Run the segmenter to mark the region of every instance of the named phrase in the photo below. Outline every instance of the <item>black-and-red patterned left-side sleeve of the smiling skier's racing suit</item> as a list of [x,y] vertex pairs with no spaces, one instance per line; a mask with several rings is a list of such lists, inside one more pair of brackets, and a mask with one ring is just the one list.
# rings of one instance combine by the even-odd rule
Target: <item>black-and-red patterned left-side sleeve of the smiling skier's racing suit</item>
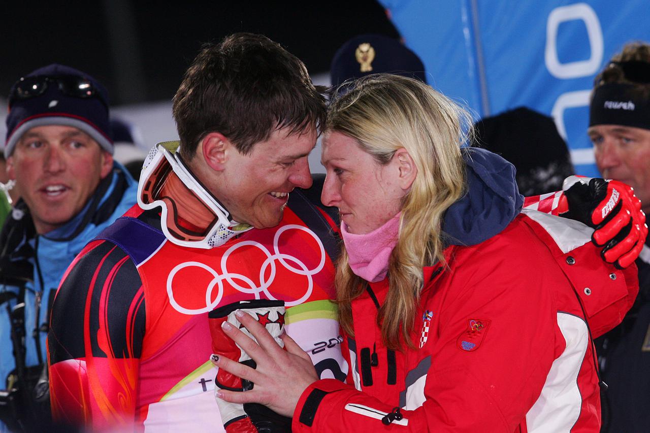
[[48,335],[53,417],[92,430],[132,428],[145,308],[135,264],[88,244],[57,291]]

